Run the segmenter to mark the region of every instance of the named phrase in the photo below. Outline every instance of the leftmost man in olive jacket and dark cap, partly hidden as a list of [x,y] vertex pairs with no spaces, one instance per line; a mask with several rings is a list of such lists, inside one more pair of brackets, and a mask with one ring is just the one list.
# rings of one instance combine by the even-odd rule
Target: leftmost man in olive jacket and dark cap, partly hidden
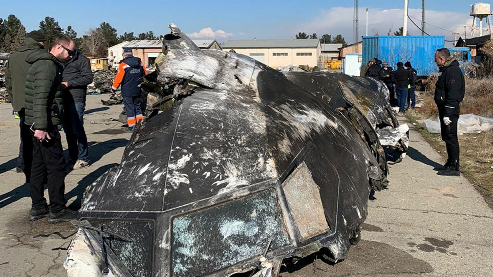
[[15,112],[19,114],[21,143],[19,157],[17,158],[17,172],[24,172],[26,183],[29,183],[31,175],[31,160],[33,159],[33,141],[29,126],[24,124],[24,90],[26,88],[26,75],[31,67],[26,62],[29,54],[43,49],[44,35],[39,31],[33,31],[26,35],[24,43],[10,55],[5,67],[5,86]]

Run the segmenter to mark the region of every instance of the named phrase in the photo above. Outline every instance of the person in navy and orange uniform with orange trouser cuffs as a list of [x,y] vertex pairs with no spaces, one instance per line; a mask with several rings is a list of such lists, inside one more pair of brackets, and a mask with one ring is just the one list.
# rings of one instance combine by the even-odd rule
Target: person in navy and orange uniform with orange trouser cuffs
[[143,119],[141,108],[141,77],[147,74],[141,59],[132,55],[131,48],[123,49],[124,59],[120,61],[118,72],[111,89],[113,93],[121,85],[123,104],[127,113],[128,132]]

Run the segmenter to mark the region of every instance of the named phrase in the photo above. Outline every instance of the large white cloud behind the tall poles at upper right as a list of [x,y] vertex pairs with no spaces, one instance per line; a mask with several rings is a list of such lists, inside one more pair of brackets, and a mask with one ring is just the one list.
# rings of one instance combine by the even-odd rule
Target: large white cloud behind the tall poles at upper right
[[[403,25],[403,9],[382,9],[370,8],[368,11],[368,35],[387,35],[391,28],[391,35]],[[409,15],[412,20],[421,28],[421,9],[410,9]],[[330,34],[335,36],[341,34],[348,43],[353,42],[352,28],[352,7],[332,7],[323,10],[311,21],[291,24],[291,34],[305,32],[307,34],[317,33],[318,36]],[[426,25],[426,32],[430,35],[445,35],[446,39],[453,38],[453,32],[463,36],[464,25],[467,25],[468,36],[470,35],[472,19],[468,13],[426,10],[426,23],[441,27],[445,30]],[[359,9],[359,36],[365,35],[366,11],[365,8]],[[421,35],[421,31],[408,20],[408,32],[410,35]]]

